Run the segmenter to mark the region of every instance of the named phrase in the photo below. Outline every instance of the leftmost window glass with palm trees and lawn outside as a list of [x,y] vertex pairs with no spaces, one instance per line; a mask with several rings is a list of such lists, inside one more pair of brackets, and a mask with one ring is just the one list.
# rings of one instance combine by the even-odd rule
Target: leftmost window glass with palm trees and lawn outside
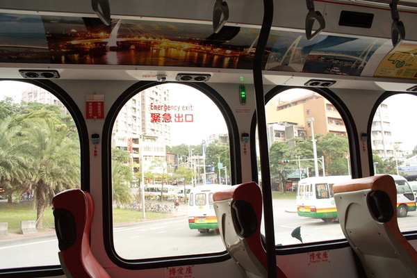
[[0,269],[59,265],[51,200],[80,188],[74,120],[51,92],[0,81]]

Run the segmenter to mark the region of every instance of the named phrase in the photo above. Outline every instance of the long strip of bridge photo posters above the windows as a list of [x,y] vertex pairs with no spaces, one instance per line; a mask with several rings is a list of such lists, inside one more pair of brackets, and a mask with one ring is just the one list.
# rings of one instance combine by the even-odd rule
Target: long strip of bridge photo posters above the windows
[[[259,28],[0,13],[0,63],[252,69]],[[272,30],[264,70],[417,80],[417,43]]]

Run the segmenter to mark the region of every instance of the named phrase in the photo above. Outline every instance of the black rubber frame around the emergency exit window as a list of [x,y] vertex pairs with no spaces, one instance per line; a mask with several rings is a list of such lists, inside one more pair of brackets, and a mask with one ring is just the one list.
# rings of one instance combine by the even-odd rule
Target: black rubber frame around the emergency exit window
[[[242,171],[238,166],[240,161],[240,136],[238,133],[238,124],[234,118],[234,113],[231,111],[229,104],[224,98],[213,88],[205,83],[188,83],[188,82],[166,82],[188,85],[195,88],[211,99],[216,104],[224,117],[229,132],[229,148],[231,161],[231,183],[241,183]],[[102,151],[102,191],[103,191],[103,233],[104,233],[104,247],[109,259],[115,265],[129,270],[142,270],[150,268],[163,268],[174,265],[195,264],[195,263],[215,263],[229,259],[227,251],[218,253],[206,254],[189,254],[184,256],[170,256],[160,258],[147,259],[124,259],[117,254],[113,242],[113,208],[111,206],[112,200],[112,184],[111,184],[111,134],[113,124],[116,117],[124,104],[126,104],[131,97],[138,94],[142,90],[152,88],[161,83],[156,81],[138,81],[126,89],[120,97],[118,97],[108,111],[103,127],[103,140],[101,144]]]

